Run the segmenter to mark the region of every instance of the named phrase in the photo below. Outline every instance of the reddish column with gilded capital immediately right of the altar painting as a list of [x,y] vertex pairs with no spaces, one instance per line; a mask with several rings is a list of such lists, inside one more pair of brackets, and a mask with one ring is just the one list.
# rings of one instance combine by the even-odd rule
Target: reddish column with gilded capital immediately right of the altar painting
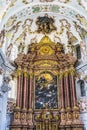
[[63,72],[60,71],[59,73],[59,90],[60,90],[60,112],[61,112],[61,122],[60,122],[60,129],[65,130],[65,106],[64,106],[64,87],[63,87]]

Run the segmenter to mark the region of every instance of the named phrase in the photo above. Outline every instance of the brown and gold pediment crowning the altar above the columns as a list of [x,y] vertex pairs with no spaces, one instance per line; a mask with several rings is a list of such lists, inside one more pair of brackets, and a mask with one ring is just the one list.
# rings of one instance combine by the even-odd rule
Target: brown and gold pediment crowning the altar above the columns
[[76,59],[64,53],[61,43],[55,44],[48,36],[44,36],[39,43],[29,46],[28,54],[19,54],[15,62],[35,69],[63,69],[74,65]]

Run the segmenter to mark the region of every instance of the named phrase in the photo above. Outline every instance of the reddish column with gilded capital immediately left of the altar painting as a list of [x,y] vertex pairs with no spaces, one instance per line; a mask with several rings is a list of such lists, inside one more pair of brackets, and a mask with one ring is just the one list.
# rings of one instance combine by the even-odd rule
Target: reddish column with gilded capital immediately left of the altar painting
[[29,125],[29,130],[33,130],[34,124],[33,124],[33,70],[30,69],[29,71],[29,108],[28,108],[28,116],[27,121]]

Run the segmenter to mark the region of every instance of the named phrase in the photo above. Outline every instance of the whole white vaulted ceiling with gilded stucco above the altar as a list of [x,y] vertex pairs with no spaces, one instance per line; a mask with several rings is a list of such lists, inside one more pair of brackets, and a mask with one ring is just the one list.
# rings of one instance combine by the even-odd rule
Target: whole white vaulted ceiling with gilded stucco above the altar
[[0,47],[5,44],[9,60],[27,53],[28,45],[44,35],[61,42],[66,53],[87,35],[86,0],[4,0],[1,8]]

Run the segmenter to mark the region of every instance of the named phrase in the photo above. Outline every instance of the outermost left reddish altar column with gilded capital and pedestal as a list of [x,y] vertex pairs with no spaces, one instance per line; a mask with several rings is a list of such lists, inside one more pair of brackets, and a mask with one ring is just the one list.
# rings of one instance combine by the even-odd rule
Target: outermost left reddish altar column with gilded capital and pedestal
[[11,125],[11,130],[21,130],[21,89],[22,88],[22,70],[21,67],[17,70],[17,100],[16,108],[14,109],[14,120]]

